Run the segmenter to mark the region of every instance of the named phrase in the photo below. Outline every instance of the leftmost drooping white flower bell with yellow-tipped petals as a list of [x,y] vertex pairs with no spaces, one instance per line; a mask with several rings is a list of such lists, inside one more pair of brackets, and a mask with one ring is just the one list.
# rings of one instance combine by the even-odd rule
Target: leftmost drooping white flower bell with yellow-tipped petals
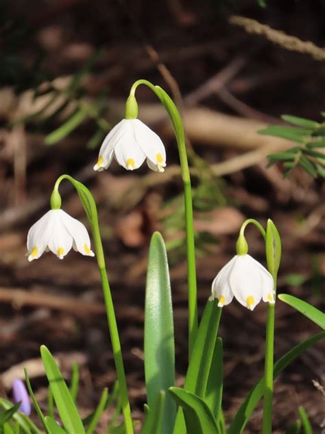
[[86,227],[62,209],[50,209],[28,231],[29,261],[40,258],[44,251],[51,251],[63,259],[71,247],[82,255],[94,256]]

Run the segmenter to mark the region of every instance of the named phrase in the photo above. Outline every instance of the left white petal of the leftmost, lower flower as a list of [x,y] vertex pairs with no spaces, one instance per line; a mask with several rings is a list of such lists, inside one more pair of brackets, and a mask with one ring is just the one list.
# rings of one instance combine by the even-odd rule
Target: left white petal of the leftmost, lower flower
[[40,258],[47,248],[47,244],[55,229],[53,222],[56,221],[58,209],[50,209],[29,229],[27,234],[28,260]]

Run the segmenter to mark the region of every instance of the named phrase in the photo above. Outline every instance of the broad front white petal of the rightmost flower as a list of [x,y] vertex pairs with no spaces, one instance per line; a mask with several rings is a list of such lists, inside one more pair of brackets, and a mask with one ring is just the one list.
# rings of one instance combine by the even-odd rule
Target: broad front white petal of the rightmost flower
[[230,288],[240,304],[253,310],[261,301],[263,278],[250,255],[237,255],[230,275]]

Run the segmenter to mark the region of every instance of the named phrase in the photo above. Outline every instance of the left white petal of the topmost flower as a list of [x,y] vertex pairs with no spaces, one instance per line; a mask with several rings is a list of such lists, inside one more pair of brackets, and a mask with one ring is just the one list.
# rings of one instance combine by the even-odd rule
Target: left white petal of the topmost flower
[[119,124],[115,125],[115,127],[110,130],[101,144],[98,161],[94,165],[94,170],[101,172],[101,170],[108,168],[113,158],[115,146],[117,146],[129,128],[130,124],[128,123],[128,119],[122,119]]

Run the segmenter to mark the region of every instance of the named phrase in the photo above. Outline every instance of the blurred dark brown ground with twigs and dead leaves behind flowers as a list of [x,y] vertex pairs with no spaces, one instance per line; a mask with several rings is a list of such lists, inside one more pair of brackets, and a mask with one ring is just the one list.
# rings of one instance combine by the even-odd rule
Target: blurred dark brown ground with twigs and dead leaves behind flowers
[[[0,1],[0,394],[29,367],[45,404],[39,346],[48,345],[69,378],[80,365],[80,408],[88,414],[115,369],[94,260],[71,252],[27,262],[29,227],[49,209],[53,183],[69,173],[86,183],[99,207],[108,275],[117,310],[134,417],[143,418],[143,304],[149,239],[165,237],[176,326],[177,382],[186,372],[186,262],[178,152],[158,100],[139,87],[139,117],[167,149],[164,174],[117,163],[93,171],[101,141],[123,117],[130,86],[159,84],[182,112],[193,168],[200,312],[210,284],[234,255],[245,218],[272,218],[283,244],[280,293],[324,310],[325,205],[322,176],[301,167],[283,179],[267,155],[292,142],[257,131],[283,125],[280,115],[322,122],[324,0]],[[241,17],[241,18],[240,18]],[[243,17],[253,21],[245,21]],[[316,47],[288,43],[283,34]],[[319,51],[317,52],[317,47]],[[86,224],[77,194],[62,183],[63,208]],[[250,253],[265,263],[264,245],[248,228]],[[280,301],[276,358],[317,332]],[[226,385],[231,418],[263,373],[265,305],[254,313],[224,309]],[[314,432],[324,427],[324,344],[311,348],[275,385],[275,433],[304,405]],[[110,415],[106,416],[110,418]],[[261,411],[248,433],[260,433]]]

